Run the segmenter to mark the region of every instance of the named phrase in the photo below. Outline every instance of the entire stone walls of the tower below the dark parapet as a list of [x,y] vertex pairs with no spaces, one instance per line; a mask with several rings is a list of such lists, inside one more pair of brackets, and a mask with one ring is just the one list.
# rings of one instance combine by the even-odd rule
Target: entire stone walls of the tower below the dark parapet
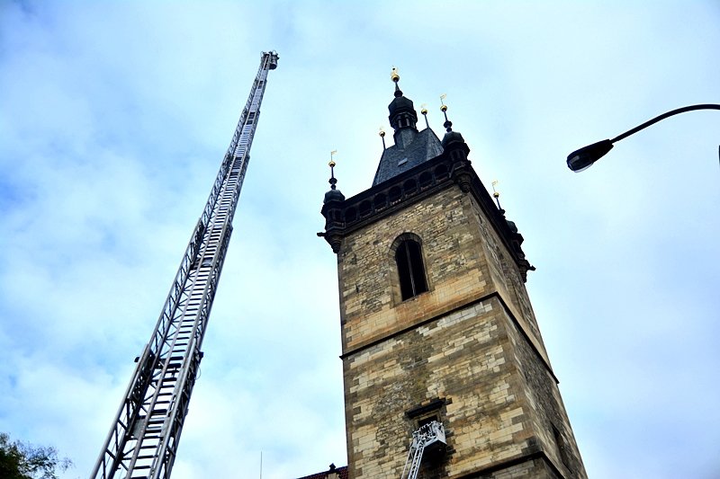
[[[344,239],[338,279],[350,477],[400,476],[418,427],[407,412],[438,399],[449,450],[424,466],[423,477],[470,477],[505,461],[515,461],[516,473],[489,477],[553,477],[518,472],[535,467],[518,460],[537,461],[529,455],[538,451],[561,470],[570,462],[581,471],[568,477],[584,477],[581,462],[555,446],[553,427],[571,444],[566,451],[577,451],[529,300],[520,304],[527,292],[508,278],[509,254],[489,225],[454,186]],[[391,246],[405,233],[419,236],[429,290],[402,301]]]

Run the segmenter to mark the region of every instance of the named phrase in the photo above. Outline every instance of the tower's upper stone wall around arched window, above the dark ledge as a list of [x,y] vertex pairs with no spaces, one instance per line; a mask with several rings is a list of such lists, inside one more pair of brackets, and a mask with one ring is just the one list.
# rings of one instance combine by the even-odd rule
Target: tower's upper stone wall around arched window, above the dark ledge
[[[398,288],[393,288],[398,277],[391,250],[403,233],[422,240],[429,288],[427,294],[404,302]],[[523,314],[517,296],[509,293],[511,280],[491,266],[489,253],[502,255],[503,249],[487,219],[483,221],[480,207],[456,186],[348,235],[338,253],[344,350],[498,291],[547,362],[534,316]],[[509,253],[504,257],[509,258]],[[519,279],[516,265],[506,268]],[[518,288],[527,297],[524,285]]]

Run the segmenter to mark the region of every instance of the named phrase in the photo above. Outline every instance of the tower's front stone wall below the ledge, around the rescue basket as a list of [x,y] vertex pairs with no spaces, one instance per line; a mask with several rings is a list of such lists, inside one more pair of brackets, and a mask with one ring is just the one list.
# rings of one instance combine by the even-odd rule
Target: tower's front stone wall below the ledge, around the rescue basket
[[436,398],[454,449],[440,476],[527,452],[531,421],[499,308],[476,303],[345,359],[352,477],[399,476],[418,427],[406,412]]

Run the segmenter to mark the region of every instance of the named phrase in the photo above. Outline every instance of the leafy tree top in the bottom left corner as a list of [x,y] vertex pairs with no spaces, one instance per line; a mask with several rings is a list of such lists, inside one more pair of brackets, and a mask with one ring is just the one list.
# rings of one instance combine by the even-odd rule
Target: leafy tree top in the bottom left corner
[[35,447],[0,432],[0,478],[58,479],[57,471],[65,471],[72,462],[59,458],[55,448]]

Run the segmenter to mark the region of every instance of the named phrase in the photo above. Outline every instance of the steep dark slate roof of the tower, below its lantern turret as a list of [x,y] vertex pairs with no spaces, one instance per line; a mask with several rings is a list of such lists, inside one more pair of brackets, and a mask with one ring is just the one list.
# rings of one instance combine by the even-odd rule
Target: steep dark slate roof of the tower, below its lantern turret
[[401,148],[393,145],[383,151],[380,164],[377,166],[377,173],[373,186],[386,182],[400,173],[410,170],[429,159],[435,158],[443,153],[443,146],[432,129],[419,131],[410,145]]

